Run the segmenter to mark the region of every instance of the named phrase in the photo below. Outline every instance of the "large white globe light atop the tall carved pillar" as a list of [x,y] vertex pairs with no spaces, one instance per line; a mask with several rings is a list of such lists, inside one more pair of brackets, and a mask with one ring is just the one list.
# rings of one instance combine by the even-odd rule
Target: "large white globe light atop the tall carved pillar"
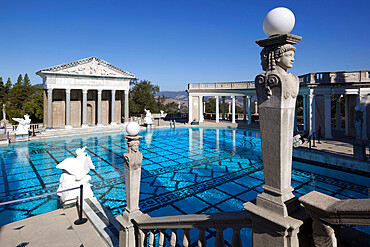
[[295,17],[290,9],[279,7],[267,13],[263,20],[263,31],[267,36],[288,34],[293,30]]

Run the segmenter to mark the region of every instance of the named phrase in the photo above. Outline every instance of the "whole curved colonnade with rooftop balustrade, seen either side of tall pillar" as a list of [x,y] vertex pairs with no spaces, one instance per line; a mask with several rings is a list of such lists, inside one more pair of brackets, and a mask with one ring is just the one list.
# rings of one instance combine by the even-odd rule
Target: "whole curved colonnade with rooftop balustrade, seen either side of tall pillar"
[[[303,129],[312,134],[321,133],[322,137],[332,138],[332,130],[342,131],[344,135],[355,136],[354,108],[363,109],[363,136],[370,138],[370,71],[320,72],[299,76],[299,97],[303,98]],[[225,97],[231,97],[232,123],[235,120],[235,98],[243,97],[243,120],[251,124],[251,105],[255,99],[254,81],[189,83],[189,123],[204,121],[204,97],[216,99],[216,122],[225,119]],[[333,103],[332,103],[333,101]],[[344,110],[341,108],[344,101]],[[335,103],[334,103],[335,102]],[[221,104],[222,115],[219,114]],[[332,104],[335,104],[332,106]],[[255,103],[257,105],[257,102]],[[335,108],[335,120],[332,111]],[[344,112],[343,112],[344,111]],[[341,116],[344,115],[344,125]],[[248,116],[248,117],[247,117]]]

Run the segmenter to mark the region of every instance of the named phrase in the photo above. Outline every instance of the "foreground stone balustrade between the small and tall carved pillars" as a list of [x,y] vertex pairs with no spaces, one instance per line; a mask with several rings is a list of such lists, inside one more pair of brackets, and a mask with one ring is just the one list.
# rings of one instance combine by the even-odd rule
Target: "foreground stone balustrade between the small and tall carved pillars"
[[[225,246],[224,244],[224,229],[233,229],[231,246],[242,246],[240,230],[242,228],[251,228],[252,222],[249,214],[245,211],[212,213],[212,214],[191,214],[179,216],[166,216],[144,219],[140,222],[135,222],[138,228],[136,246],[167,246],[165,244],[165,231],[169,229],[171,235],[169,237],[169,245],[171,247],[178,246],[177,230],[183,229],[181,245],[184,247],[190,246],[190,229],[198,229],[197,246],[206,246],[207,229],[216,229],[215,246]],[[158,230],[159,236],[155,238],[155,230]],[[158,239],[156,243],[155,239]]]

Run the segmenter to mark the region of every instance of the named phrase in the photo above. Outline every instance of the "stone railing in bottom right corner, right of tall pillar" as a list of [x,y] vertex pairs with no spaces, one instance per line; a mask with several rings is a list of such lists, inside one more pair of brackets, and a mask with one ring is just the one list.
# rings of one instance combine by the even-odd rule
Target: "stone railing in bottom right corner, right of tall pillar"
[[299,201],[313,219],[315,246],[340,246],[340,225],[370,225],[370,199],[339,200],[312,191]]

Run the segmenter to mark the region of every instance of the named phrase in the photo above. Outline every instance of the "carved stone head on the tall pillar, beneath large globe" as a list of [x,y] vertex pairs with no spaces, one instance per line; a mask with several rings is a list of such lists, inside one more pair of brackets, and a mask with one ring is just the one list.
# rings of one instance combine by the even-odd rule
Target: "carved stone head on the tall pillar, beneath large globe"
[[291,44],[265,47],[261,51],[261,66],[264,71],[276,70],[276,66],[285,71],[293,67],[296,48]]

